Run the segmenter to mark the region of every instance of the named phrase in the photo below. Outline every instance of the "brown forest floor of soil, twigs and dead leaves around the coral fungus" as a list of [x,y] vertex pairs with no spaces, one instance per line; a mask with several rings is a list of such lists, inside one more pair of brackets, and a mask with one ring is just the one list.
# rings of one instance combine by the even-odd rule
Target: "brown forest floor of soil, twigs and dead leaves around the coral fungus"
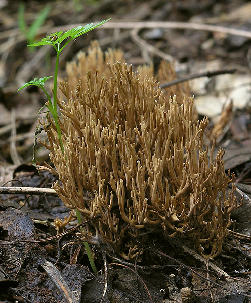
[[[114,255],[104,258],[93,246],[99,270],[94,275],[76,230],[71,231],[75,222],[64,235],[56,235],[54,219],[69,214],[58,197],[0,192],[0,302],[251,302],[251,3],[31,0],[25,1],[28,25],[46,4],[50,11],[37,39],[111,18],[64,49],[60,78],[66,63],[95,39],[103,51],[122,49],[134,70],[153,63],[157,71],[167,60],[178,79],[197,74],[188,84],[198,117],[210,117],[206,142],[211,144],[217,132],[216,147],[226,150],[225,169],[235,173],[236,196],[244,195],[244,205],[233,213],[236,222],[214,260],[200,257],[183,239],[156,235],[135,263]],[[35,77],[53,75],[55,54],[48,47],[26,47],[19,5],[0,0],[0,186],[50,188],[55,176],[39,176],[31,165],[45,97],[37,87],[17,89]],[[216,76],[199,77],[215,71]],[[49,161],[39,143],[36,159]]]

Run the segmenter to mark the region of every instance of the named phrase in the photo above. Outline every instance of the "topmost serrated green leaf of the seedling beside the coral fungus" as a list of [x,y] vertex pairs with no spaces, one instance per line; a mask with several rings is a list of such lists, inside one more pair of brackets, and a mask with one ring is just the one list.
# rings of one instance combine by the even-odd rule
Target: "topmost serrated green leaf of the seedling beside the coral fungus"
[[[93,25],[93,23],[87,24],[85,26],[78,26],[68,30],[67,32],[63,33],[63,31],[52,33],[51,35],[46,36],[46,38],[41,39],[41,41],[33,44],[29,44],[28,46],[43,46],[43,45],[52,45],[55,44],[60,45],[61,42],[69,38],[69,41],[74,40],[75,38],[93,30],[94,28],[104,24],[105,22],[109,21],[110,19],[103,20],[102,22]],[[56,40],[52,40],[51,36],[56,36]]]

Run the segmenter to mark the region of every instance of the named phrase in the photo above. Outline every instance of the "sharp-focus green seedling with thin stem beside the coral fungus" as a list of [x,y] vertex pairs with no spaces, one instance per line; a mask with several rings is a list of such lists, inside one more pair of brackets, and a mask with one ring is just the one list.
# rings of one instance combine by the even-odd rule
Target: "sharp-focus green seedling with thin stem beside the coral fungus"
[[[110,20],[110,19],[108,19],[108,20]],[[93,23],[91,23],[91,24],[87,24],[85,26],[78,26],[78,27],[75,27],[75,28],[72,28],[72,29],[68,30],[67,32],[60,31],[60,32],[52,33],[50,35],[47,35],[46,38],[41,39],[41,41],[28,45],[28,46],[50,45],[50,46],[53,46],[55,51],[57,52],[55,72],[54,72],[53,100],[51,99],[49,93],[47,92],[47,90],[44,87],[45,82],[48,79],[52,78],[52,76],[43,77],[43,78],[35,78],[34,80],[32,80],[28,83],[25,83],[23,86],[21,86],[18,89],[18,91],[25,88],[25,87],[31,86],[31,85],[35,85],[35,86],[40,87],[41,89],[43,89],[43,91],[45,92],[45,94],[47,96],[47,99],[48,99],[48,102],[45,104],[45,106],[48,108],[49,112],[51,113],[51,115],[54,119],[56,129],[57,129],[57,133],[58,133],[58,138],[59,138],[59,141],[60,141],[60,146],[61,146],[61,149],[62,149],[63,152],[64,152],[64,146],[63,146],[63,142],[62,142],[62,133],[61,133],[61,129],[60,129],[60,126],[59,126],[59,120],[58,120],[58,114],[57,114],[57,79],[58,79],[59,55],[63,51],[63,49],[72,40],[74,40],[77,37],[93,30],[94,28],[104,24],[108,20],[104,20],[104,21],[102,21],[102,22],[100,22],[96,25],[93,25]],[[81,214],[78,210],[75,210],[75,211],[76,211],[78,224],[81,224],[82,223]],[[83,230],[82,226],[80,227],[80,229]],[[93,271],[95,273],[97,273],[97,268],[94,264],[90,247],[89,247],[87,242],[84,242],[84,244],[85,244],[87,256],[89,258],[91,267],[92,267]]]

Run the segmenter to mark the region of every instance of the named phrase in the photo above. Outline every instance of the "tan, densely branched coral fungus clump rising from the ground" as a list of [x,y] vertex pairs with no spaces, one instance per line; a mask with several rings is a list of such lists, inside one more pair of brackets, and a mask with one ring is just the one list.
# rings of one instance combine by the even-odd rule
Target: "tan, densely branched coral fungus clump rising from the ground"
[[[133,238],[149,230],[185,236],[203,256],[217,256],[240,204],[234,185],[226,195],[232,178],[224,150],[214,158],[214,143],[209,157],[203,147],[207,118],[193,123],[193,98],[178,104],[157,81],[116,62],[117,53],[107,53],[106,65],[95,52],[69,65],[68,82],[61,82],[64,153],[53,121],[41,121],[55,166],[46,168],[60,180],[53,188],[83,219],[100,215],[82,231],[85,241],[103,242],[125,258],[138,253]],[[97,58],[99,71],[90,66]]]

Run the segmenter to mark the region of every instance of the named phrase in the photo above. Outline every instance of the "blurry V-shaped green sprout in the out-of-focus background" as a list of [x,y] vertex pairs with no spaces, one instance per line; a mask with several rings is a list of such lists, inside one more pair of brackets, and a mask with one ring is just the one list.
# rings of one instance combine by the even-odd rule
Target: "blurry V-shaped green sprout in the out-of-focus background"
[[36,42],[36,35],[39,32],[39,29],[46,21],[46,18],[50,12],[50,5],[46,5],[43,10],[39,13],[37,18],[31,23],[28,27],[25,22],[25,4],[22,2],[18,8],[18,26],[20,31],[25,35],[28,44]]

